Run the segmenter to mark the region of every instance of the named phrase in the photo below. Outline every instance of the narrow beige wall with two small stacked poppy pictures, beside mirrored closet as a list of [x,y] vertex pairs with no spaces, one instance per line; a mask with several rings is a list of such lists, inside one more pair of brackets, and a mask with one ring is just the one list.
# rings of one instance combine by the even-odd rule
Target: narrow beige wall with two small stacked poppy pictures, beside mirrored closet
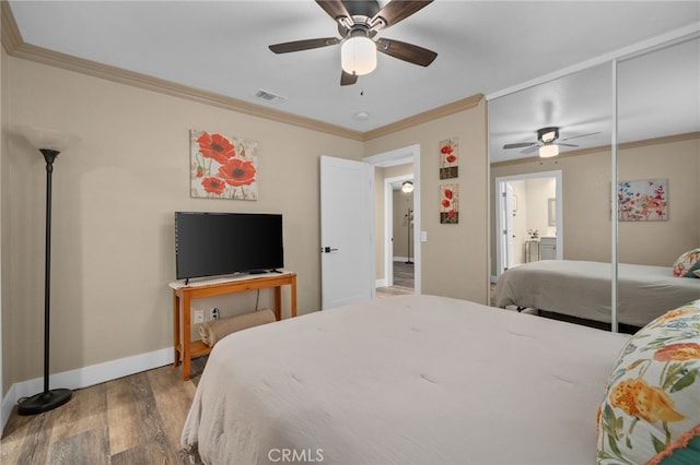
[[[459,224],[440,224],[439,143],[459,138]],[[422,293],[486,303],[487,118],[486,100],[475,107],[365,142],[365,155],[420,146]]]

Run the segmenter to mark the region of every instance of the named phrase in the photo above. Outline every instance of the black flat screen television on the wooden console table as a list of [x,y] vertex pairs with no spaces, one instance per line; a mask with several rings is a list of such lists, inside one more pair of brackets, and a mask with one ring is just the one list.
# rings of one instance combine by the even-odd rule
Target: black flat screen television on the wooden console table
[[283,266],[281,214],[175,212],[177,279]]

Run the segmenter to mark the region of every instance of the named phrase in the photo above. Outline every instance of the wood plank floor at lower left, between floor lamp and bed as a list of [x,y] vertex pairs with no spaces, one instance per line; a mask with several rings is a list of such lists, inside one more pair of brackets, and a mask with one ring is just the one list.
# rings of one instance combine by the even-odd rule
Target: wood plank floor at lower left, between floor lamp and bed
[[189,464],[179,437],[205,358],[192,380],[172,366],[75,390],[68,404],[33,416],[16,407],[0,440],[2,464]]

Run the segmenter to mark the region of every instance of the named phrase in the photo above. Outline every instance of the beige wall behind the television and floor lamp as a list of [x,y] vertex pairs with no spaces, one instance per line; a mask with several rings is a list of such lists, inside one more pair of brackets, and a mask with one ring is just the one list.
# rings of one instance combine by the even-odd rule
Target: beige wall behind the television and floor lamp
[[[52,372],[172,346],[175,211],[282,213],[299,312],[319,309],[318,157],[362,142],[11,57],[2,75],[10,127],[82,136],[54,171]],[[190,129],[259,142],[259,201],[189,198]],[[0,165],[7,392],[42,372],[45,163],[11,136]]]

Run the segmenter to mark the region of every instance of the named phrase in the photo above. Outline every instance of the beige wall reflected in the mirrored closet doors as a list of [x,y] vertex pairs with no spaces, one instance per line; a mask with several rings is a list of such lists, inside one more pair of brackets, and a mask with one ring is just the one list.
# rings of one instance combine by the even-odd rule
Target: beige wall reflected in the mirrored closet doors
[[[696,193],[700,179],[700,139],[681,139],[649,141],[646,145],[628,145],[619,151],[620,180],[666,178],[669,199],[667,222],[619,224],[620,262],[670,266],[680,253],[700,245],[700,206]],[[497,177],[556,169],[562,171],[563,258],[609,262],[609,150],[493,166],[491,195],[494,195]],[[493,215],[491,230],[495,230]],[[494,243],[492,240],[491,270],[495,270]]]

